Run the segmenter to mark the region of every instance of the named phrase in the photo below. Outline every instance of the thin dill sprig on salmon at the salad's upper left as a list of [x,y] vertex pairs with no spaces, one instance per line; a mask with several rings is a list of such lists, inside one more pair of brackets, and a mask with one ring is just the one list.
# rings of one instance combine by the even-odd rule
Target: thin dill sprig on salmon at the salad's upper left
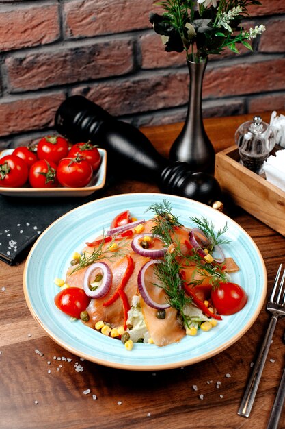
[[120,256],[124,256],[124,247],[126,245],[126,238],[122,238],[120,243],[118,243],[118,247],[116,250],[110,250],[111,246],[113,246],[113,243],[115,242],[116,236],[113,236],[112,240],[109,242],[107,247],[104,248],[105,245],[105,237],[103,237],[102,241],[99,243],[98,247],[94,247],[94,250],[92,254],[88,252],[84,252],[81,255],[81,258],[79,260],[78,265],[72,270],[71,274],[73,274],[75,271],[79,271],[79,269],[88,267],[89,265],[93,264],[94,262],[101,260],[101,259],[107,259],[111,260],[113,258],[119,258]]

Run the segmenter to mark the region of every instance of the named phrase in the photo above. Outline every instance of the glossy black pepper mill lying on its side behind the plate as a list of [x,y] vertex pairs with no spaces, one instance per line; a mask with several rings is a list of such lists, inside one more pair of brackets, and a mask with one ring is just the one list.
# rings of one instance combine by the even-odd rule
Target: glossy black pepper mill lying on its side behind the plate
[[55,128],[72,143],[90,140],[106,149],[108,170],[116,175],[154,182],[163,193],[195,199],[222,210],[221,188],[215,177],[193,173],[187,162],[169,162],[137,128],[118,121],[81,95],[68,97],[59,106]]

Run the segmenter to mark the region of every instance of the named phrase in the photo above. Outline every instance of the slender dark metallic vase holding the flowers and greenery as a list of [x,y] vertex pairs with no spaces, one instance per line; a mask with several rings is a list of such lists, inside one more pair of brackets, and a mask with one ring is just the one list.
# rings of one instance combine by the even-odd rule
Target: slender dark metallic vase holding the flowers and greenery
[[190,77],[187,117],[174,141],[169,158],[185,161],[192,171],[214,173],[215,150],[204,129],[202,119],[202,84],[207,62],[187,61]]

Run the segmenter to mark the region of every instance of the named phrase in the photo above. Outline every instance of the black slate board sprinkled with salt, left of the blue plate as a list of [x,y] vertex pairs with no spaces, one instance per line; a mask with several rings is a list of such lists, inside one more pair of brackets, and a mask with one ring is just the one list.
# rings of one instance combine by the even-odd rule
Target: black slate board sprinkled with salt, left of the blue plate
[[21,262],[38,236],[53,221],[103,195],[89,197],[23,198],[0,195],[0,260],[14,265]]

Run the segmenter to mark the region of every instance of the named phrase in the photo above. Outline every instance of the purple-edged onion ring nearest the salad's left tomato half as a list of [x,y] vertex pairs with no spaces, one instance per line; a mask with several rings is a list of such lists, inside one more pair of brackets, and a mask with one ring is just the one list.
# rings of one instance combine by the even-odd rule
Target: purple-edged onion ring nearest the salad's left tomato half
[[[95,291],[91,291],[90,289],[90,277],[94,273],[96,269],[99,269],[102,271],[102,283]],[[90,267],[87,268],[84,279],[83,279],[83,289],[88,297],[91,298],[102,298],[105,297],[105,295],[109,292],[109,289],[111,287],[112,282],[112,271],[108,267],[105,262],[94,262],[94,264],[90,265]]]

